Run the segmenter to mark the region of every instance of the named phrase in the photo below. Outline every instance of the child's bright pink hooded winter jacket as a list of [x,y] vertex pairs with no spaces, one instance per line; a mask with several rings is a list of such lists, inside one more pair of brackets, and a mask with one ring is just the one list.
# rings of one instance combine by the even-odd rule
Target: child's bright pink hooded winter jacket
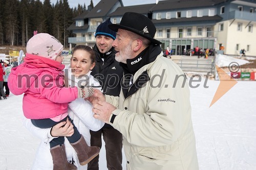
[[26,54],[24,63],[11,70],[8,86],[15,95],[24,94],[23,112],[30,119],[52,118],[66,113],[78,96],[77,87],[63,87],[65,65]]

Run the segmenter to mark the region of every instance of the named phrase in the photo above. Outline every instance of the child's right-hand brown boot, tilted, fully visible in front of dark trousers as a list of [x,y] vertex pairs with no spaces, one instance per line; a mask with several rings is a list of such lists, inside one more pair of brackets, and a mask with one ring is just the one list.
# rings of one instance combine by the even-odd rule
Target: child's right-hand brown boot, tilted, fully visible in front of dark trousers
[[84,140],[83,136],[75,142],[70,143],[72,147],[75,149],[77,153],[77,157],[79,159],[80,165],[86,165],[89,163],[93,158],[99,155],[100,148],[99,147],[89,147]]

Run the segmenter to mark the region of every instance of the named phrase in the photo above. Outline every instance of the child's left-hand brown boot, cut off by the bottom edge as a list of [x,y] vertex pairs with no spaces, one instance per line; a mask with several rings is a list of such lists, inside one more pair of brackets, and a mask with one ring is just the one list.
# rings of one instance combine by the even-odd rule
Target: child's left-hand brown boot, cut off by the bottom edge
[[77,170],[77,167],[67,161],[65,145],[57,145],[50,149],[53,160],[53,170]]

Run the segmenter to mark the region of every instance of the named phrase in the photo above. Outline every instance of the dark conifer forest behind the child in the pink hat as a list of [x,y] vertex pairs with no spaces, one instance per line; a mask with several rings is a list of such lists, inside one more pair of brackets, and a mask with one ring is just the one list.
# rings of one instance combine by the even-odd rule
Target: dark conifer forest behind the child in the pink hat
[[53,35],[66,47],[72,18],[86,10],[86,4],[70,8],[68,0],[0,0],[0,45],[26,46],[36,30]]

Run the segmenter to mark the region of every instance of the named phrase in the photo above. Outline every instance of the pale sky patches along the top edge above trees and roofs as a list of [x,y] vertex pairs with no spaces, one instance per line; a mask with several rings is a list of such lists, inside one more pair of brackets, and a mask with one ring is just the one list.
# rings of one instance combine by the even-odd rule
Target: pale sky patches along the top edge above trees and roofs
[[[40,0],[44,2],[44,0]],[[56,4],[57,0],[50,0],[51,4]],[[91,0],[68,0],[70,8],[77,7],[78,3],[83,5],[84,3],[88,7],[91,3]],[[96,6],[100,0],[93,0],[93,5]],[[156,3],[156,0],[122,0],[123,6],[132,6],[132,5],[142,5],[142,4],[153,4]]]

